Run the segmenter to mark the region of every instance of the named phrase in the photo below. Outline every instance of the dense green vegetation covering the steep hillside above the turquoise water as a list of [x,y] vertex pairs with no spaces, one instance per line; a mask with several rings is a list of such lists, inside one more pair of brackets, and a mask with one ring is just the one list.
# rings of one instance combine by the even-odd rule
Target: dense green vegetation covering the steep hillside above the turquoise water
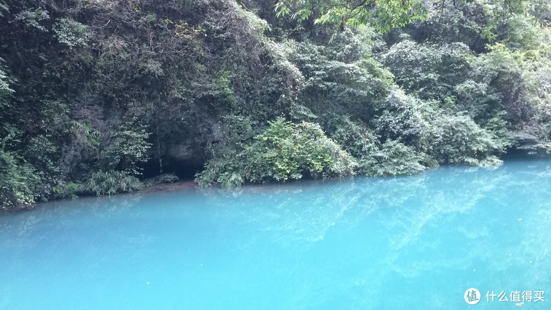
[[0,0],[0,206],[551,149],[549,1],[381,3]]

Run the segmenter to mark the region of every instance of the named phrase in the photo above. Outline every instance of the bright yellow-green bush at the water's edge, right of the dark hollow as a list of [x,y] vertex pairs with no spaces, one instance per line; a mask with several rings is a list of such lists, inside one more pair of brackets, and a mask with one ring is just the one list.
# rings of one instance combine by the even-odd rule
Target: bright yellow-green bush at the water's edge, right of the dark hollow
[[230,150],[207,162],[197,175],[201,186],[220,183],[239,186],[244,182],[297,180],[353,175],[356,162],[317,124],[294,124],[278,118],[249,144]]

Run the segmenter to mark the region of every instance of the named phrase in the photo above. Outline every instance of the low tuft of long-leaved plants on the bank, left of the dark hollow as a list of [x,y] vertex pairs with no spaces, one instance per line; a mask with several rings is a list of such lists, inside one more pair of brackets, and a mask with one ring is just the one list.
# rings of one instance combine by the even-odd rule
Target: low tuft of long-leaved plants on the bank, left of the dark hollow
[[100,196],[132,193],[142,188],[143,183],[128,172],[110,170],[92,173],[90,180],[82,187],[82,191]]

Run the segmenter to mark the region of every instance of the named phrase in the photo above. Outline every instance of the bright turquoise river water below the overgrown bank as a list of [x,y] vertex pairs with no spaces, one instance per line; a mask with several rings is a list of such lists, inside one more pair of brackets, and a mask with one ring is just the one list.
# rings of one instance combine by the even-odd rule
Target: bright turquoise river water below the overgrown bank
[[485,294],[551,290],[550,185],[511,161],[41,204],[0,216],[0,309],[516,309]]

